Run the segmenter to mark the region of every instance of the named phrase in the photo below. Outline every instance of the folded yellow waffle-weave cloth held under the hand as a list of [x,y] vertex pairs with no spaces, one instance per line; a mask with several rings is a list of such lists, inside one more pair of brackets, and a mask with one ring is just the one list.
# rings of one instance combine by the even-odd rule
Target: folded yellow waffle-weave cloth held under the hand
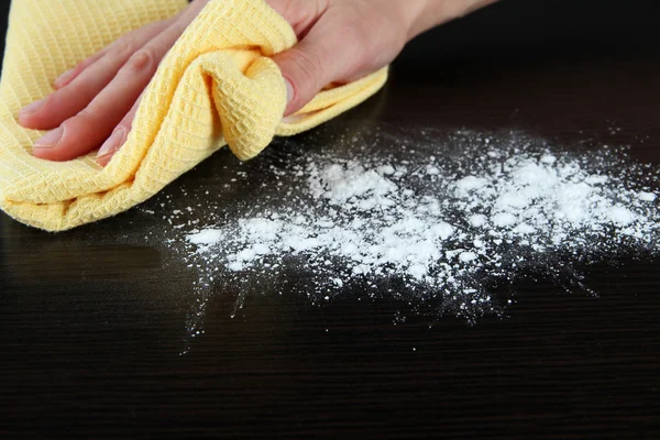
[[321,91],[292,122],[286,87],[270,56],[296,44],[263,0],[211,0],[145,90],[125,145],[102,168],[96,153],[56,163],[30,153],[44,134],[19,110],[122,34],[172,16],[186,0],[13,0],[0,81],[0,207],[16,220],[61,231],[117,215],[160,191],[229,144],[241,160],[274,135],[311,129],[375,94],[384,68]]

